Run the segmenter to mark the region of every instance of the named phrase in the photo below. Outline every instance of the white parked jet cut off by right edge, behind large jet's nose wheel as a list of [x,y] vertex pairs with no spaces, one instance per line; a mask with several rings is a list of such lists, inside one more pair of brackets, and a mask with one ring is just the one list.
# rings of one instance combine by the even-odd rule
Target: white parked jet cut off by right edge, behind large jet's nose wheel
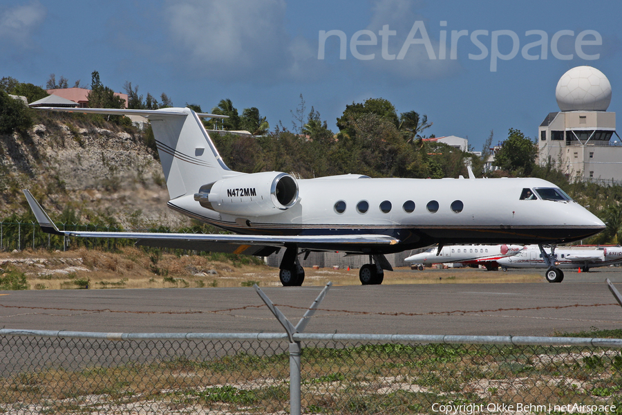
[[[525,246],[524,250],[512,257],[498,259],[501,269],[507,268],[550,268],[537,245]],[[598,249],[563,249],[554,251],[554,267],[564,269],[578,269],[587,273],[590,268],[622,263],[622,248],[619,246]],[[562,282],[564,273],[558,275],[550,269],[545,273],[548,282]]]

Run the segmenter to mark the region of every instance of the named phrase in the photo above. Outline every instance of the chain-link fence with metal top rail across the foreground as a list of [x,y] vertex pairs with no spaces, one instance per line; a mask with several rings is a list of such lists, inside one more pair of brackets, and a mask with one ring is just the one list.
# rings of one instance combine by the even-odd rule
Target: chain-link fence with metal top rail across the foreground
[[[0,331],[3,414],[622,413],[622,340]],[[298,370],[298,368],[294,368]]]

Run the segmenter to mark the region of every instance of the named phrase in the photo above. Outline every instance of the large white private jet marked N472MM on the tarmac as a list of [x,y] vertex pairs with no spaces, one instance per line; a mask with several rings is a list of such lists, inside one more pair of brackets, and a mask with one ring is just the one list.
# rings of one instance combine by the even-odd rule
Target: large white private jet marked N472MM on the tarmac
[[[381,284],[384,270],[392,270],[388,253],[435,243],[564,243],[605,228],[556,185],[537,178],[475,178],[472,172],[458,179],[246,174],[232,171],[220,158],[201,121],[211,114],[189,108],[39,109],[149,118],[169,208],[236,234],[60,231],[25,190],[44,231],[257,256],[284,249],[279,271],[284,286],[303,283],[298,257],[313,251],[368,255],[359,279]],[[529,199],[526,192],[537,196]]]

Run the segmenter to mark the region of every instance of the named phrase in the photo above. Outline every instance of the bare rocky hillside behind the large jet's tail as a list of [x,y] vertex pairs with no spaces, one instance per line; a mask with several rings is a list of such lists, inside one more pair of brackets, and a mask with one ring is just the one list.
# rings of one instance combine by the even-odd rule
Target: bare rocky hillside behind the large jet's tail
[[39,111],[28,133],[0,136],[0,220],[27,214],[21,189],[28,188],[55,221],[187,225],[166,207],[154,156],[144,132],[133,127],[102,116]]

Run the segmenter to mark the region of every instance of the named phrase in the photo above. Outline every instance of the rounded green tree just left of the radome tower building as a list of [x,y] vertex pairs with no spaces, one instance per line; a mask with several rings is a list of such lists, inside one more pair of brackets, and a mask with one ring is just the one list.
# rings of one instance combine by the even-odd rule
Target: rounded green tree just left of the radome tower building
[[495,165],[518,176],[529,176],[536,166],[538,146],[517,129],[509,129],[508,138],[495,154]]

